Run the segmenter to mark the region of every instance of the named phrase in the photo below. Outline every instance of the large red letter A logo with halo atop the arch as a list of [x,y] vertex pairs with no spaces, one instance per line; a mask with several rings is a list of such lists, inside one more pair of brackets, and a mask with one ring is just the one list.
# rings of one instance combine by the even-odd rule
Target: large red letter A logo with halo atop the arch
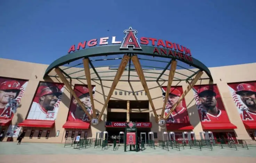
[[128,49],[129,47],[133,47],[133,49],[142,49],[141,45],[139,45],[138,38],[135,36],[138,32],[133,29],[129,28],[123,31],[125,33],[125,38],[123,38],[123,43],[120,49]]

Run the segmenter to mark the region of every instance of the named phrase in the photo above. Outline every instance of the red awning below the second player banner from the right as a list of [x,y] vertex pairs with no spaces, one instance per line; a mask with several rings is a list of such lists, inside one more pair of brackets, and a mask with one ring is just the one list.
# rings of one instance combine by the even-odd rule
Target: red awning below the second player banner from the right
[[203,130],[228,130],[236,129],[237,126],[232,123],[201,123]]

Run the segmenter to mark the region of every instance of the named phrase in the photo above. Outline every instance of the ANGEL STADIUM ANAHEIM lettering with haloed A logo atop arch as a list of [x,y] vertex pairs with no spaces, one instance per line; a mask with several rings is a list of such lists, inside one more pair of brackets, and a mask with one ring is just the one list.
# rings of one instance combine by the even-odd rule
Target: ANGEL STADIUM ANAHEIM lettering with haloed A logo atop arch
[[129,29],[126,29],[123,32],[126,34],[123,38],[123,41],[118,41],[116,36],[101,37],[99,38],[99,40],[97,38],[94,38],[89,41],[79,42],[77,45],[72,45],[68,53],[75,52],[80,49],[85,49],[87,47],[94,47],[97,45],[102,46],[120,44],[120,50],[127,50],[129,48],[132,48],[133,50],[143,50],[141,45],[152,45],[154,46],[154,49],[152,49],[153,54],[167,56],[171,55],[173,58],[178,58],[192,62],[191,51],[185,46],[167,40],[164,41],[161,39],[151,37],[141,37],[140,39],[138,39],[136,37],[136,34],[138,32],[132,27],[129,27]]

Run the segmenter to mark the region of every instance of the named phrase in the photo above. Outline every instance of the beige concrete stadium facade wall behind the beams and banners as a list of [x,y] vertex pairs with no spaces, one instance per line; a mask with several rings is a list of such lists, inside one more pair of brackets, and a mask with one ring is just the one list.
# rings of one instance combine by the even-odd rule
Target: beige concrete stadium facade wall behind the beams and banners
[[[21,107],[18,108],[12,120],[13,125],[22,122],[26,118],[27,112],[29,111],[31,102],[36,92],[36,88],[38,87],[38,84],[40,81],[62,83],[59,78],[48,77],[47,79],[43,79],[43,74],[45,73],[45,70],[48,67],[48,65],[8,60],[8,59],[0,59],[0,65],[1,65],[0,77],[29,80],[29,83],[25,90],[25,94],[21,100]],[[10,68],[9,65],[13,65],[13,66]],[[250,137],[246,132],[245,127],[243,126],[242,120],[239,117],[236,106],[232,100],[231,93],[228,89],[227,83],[255,80],[256,75],[249,73],[250,70],[255,68],[256,68],[256,63],[210,68],[211,74],[214,78],[214,84],[217,84],[218,86],[219,92],[222,97],[222,101],[224,103],[227,114],[230,118],[230,121],[238,127],[238,129],[235,129],[238,139],[250,139]],[[77,71],[78,69],[82,70],[81,68],[71,68],[69,69],[69,71],[74,72],[74,71]],[[99,71],[106,71],[106,68],[99,69]],[[159,71],[159,70],[155,70],[155,71]],[[183,73],[187,75],[191,75],[191,72],[187,72],[185,70],[178,70],[178,71],[180,72],[183,71]],[[53,75],[54,72],[52,71],[50,74]],[[168,75],[169,72],[166,71],[165,74]],[[84,71],[76,73],[72,77],[78,77],[82,75],[84,75]],[[111,74],[107,74],[107,75],[110,76]],[[115,72],[112,72],[112,75],[114,76]],[[151,74],[151,76],[156,76],[156,75]],[[92,75],[91,78],[93,77],[96,77],[96,75],[95,74]],[[176,77],[184,78],[178,74],[176,75]],[[203,74],[202,78],[204,77],[206,77],[205,73]],[[167,78],[167,77],[164,77],[164,78]],[[131,79],[135,80],[138,78],[131,77]],[[86,84],[86,80],[73,79],[71,83],[72,83],[72,86],[74,87],[75,84]],[[101,112],[105,102],[105,98],[110,91],[112,82],[103,81],[103,85],[102,85],[99,81],[95,81],[95,82],[92,81],[91,84],[96,86],[95,102],[94,102],[95,108],[97,112]],[[209,84],[209,80],[200,80],[197,82],[197,85],[200,85],[200,84]],[[159,82],[159,83],[147,82],[147,85],[150,89],[150,94],[153,99],[154,108],[157,110],[157,114],[161,114],[161,109],[163,107],[161,86],[166,86],[167,82]],[[185,82],[180,82],[180,83],[173,82],[173,86],[175,85],[182,86],[183,91],[187,87],[187,84]],[[117,91],[118,94],[115,95],[115,93],[113,93],[111,100],[148,100],[140,82],[130,82],[130,85],[128,84],[128,82],[119,82],[115,91]],[[139,95],[136,95],[136,94],[135,95],[133,94],[119,95],[119,91],[130,91],[130,92],[138,91]],[[141,91],[143,91],[143,95],[141,95],[140,93]],[[62,128],[62,126],[64,125],[67,119],[71,97],[72,97],[71,93],[65,87],[64,96],[62,97],[61,104],[59,105],[59,111],[58,111],[58,115],[55,122],[55,128],[51,130],[49,139],[45,139],[44,136],[42,135],[41,139],[38,139],[37,137],[33,137],[32,139],[25,138],[24,141],[37,141],[37,142],[46,141],[46,142],[59,142],[59,143],[63,142],[65,130]],[[199,137],[199,132],[202,131],[202,126],[200,123],[197,107],[195,106],[192,91],[190,91],[186,95],[185,101],[186,101],[191,125],[194,126],[194,132],[196,133],[196,136]],[[150,112],[150,120],[152,122],[151,130],[154,132],[158,132],[158,137],[161,138],[162,132],[166,131],[166,128],[159,127],[158,124],[154,121],[154,114],[151,106],[149,107],[149,110],[147,112]],[[96,136],[96,131],[105,130],[104,121],[106,120],[106,114],[107,114],[107,109],[105,109],[104,115],[102,117],[103,122],[99,123],[99,125],[97,126],[91,126],[91,128],[88,130],[88,137],[94,138]],[[44,130],[47,130],[47,129],[44,129]],[[59,130],[58,137],[55,136],[57,130]]]

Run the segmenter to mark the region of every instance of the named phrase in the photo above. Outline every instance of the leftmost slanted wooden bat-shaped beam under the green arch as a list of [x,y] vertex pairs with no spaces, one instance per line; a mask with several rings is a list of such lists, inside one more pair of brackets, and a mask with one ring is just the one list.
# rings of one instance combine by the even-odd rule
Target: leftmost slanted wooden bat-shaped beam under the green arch
[[65,78],[65,76],[62,74],[61,69],[60,68],[55,68],[55,72],[56,74],[59,76],[59,78],[61,78],[62,82],[65,84],[65,86],[67,87],[67,89],[69,89],[69,91],[71,92],[71,94],[73,95],[73,97],[75,98],[75,100],[77,100],[78,104],[81,106],[81,108],[83,109],[83,111],[86,113],[86,115],[88,116],[88,118],[91,120],[91,115],[89,114],[89,112],[86,110],[85,105],[80,101],[80,99],[77,97],[77,95],[75,94],[75,91],[72,89],[72,86],[70,85],[70,83],[67,81],[67,79]]

